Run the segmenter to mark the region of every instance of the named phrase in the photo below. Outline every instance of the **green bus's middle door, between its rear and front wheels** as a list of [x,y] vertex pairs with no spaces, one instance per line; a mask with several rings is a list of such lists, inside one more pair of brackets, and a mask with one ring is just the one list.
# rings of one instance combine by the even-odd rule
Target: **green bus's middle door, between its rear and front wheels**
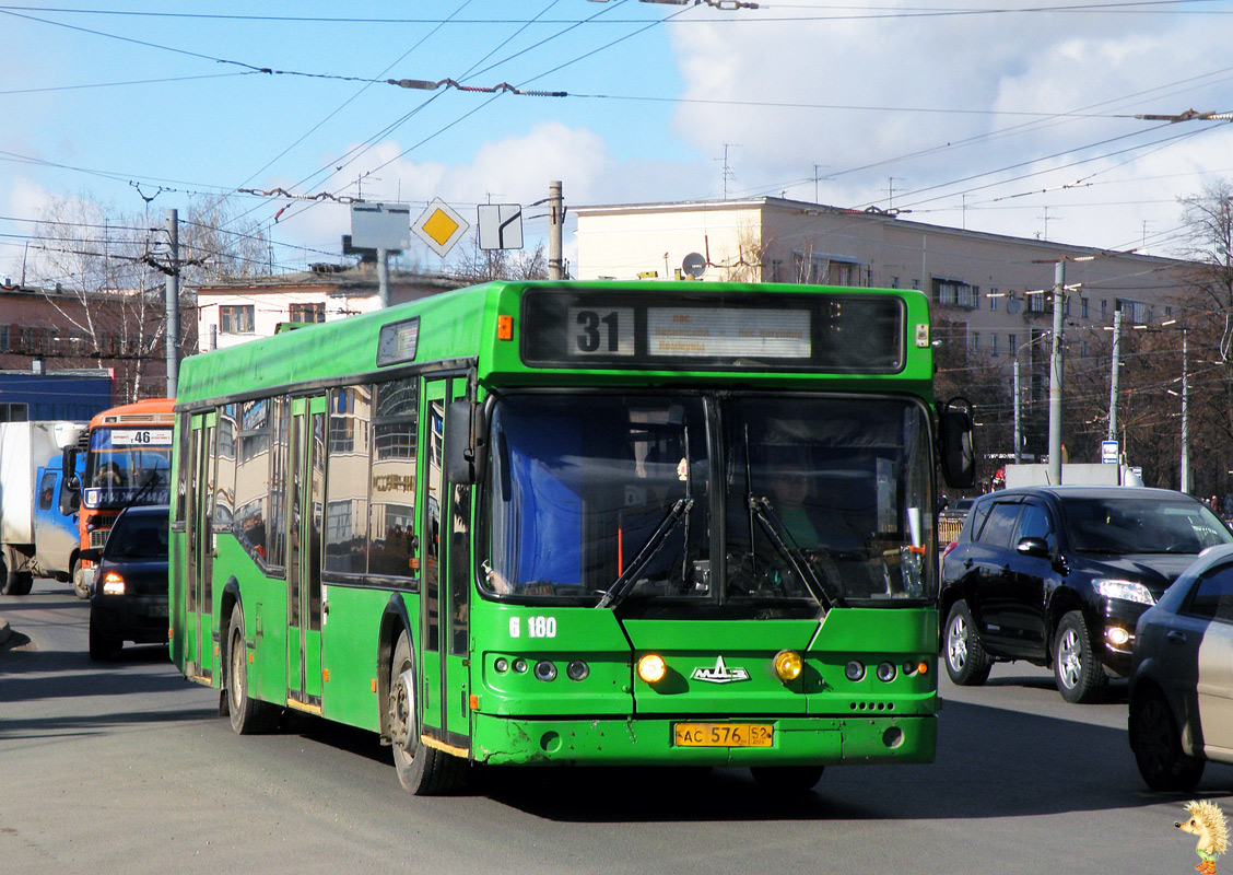
[[321,712],[321,525],[326,397],[291,400],[287,458],[287,703]]

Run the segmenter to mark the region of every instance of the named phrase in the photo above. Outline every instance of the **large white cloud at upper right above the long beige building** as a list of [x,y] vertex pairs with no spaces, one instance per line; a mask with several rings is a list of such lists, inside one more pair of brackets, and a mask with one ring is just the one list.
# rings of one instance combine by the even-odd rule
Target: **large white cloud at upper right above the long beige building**
[[[1133,115],[1218,101],[1212,85],[1223,77],[1200,75],[1223,57],[1224,33],[1212,23],[1197,15],[1058,11],[679,27],[683,96],[729,102],[682,104],[674,130],[713,156],[740,144],[730,149],[736,194],[810,200],[820,164],[820,175],[832,175],[817,185],[824,202],[887,206],[893,185],[894,206],[914,205],[922,221],[1017,236],[1043,232],[1048,207],[1049,238],[1112,246],[1141,238],[1143,221],[1163,228],[1178,215],[1171,201],[1201,183],[1141,178],[1170,167],[1227,168],[1228,133],[1196,127],[1195,137],[1153,154],[1145,144],[1182,130],[1152,135],[1149,122],[1132,118],[993,112]],[[1213,60],[1196,65],[1205,57]],[[1102,141],[1110,142],[1096,146]],[[1144,148],[1122,153],[1131,146]],[[959,181],[969,176],[977,178]],[[1117,179],[1126,184],[1062,190]],[[1038,194],[1022,197],[1028,193]],[[1132,204],[1089,206],[1113,200]]]

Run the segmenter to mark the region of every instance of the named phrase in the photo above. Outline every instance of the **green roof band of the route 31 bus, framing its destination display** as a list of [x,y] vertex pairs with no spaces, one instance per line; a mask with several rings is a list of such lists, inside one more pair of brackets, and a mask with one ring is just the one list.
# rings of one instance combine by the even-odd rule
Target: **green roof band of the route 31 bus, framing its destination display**
[[[789,307],[799,306],[801,300],[826,295],[846,301],[896,300],[901,302],[896,306],[903,312],[896,322],[901,331],[901,368],[894,373],[884,369],[841,376],[851,380],[850,388],[893,388],[931,395],[933,369],[928,346],[928,301],[920,291],[769,283],[497,280],[187,357],[181,363],[176,404],[180,410],[199,410],[223,399],[258,397],[280,388],[380,379],[383,374],[416,370],[428,363],[473,367],[481,384],[491,380],[502,385],[543,384],[549,375],[562,383],[598,384],[621,379],[663,383],[702,373],[708,379],[739,381],[752,378],[788,385],[801,376],[835,373],[799,362],[795,367],[782,367],[776,360],[768,360],[760,367],[757,362],[746,364],[743,358],[731,359],[718,368],[703,360],[670,360],[666,357],[634,368],[624,362],[599,359],[565,365],[529,362],[523,355],[523,344],[533,336],[524,330],[533,326],[520,322],[528,315],[523,309],[524,292],[533,291],[577,295],[580,300],[593,296],[616,309],[645,307],[647,301],[653,301],[655,307],[692,302],[695,312],[708,305],[715,305],[713,310],[720,304],[726,307],[729,301],[736,310],[743,306],[750,312],[773,312],[777,304],[774,296],[782,296],[783,307],[789,313],[797,312]],[[808,317],[801,318],[809,322]],[[498,338],[498,327],[512,332],[512,336]],[[821,348],[817,343],[815,347]],[[637,374],[631,376],[633,370]]]

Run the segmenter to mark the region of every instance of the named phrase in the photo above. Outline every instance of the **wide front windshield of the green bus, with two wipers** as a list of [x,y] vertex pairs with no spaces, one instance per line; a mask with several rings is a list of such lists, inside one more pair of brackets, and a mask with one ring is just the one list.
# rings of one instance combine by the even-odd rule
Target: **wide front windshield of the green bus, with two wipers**
[[919,605],[936,585],[928,439],[926,410],[899,399],[509,395],[481,585],[602,606]]

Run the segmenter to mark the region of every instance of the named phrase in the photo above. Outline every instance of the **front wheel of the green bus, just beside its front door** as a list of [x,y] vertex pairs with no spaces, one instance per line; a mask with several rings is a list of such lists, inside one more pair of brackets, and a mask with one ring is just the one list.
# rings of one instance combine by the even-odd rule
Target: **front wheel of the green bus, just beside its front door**
[[386,699],[390,717],[390,744],[393,765],[403,789],[416,796],[441,796],[462,786],[466,761],[436,750],[419,740],[419,716],[416,707],[416,665],[411,639],[398,636],[390,664],[390,690]]

